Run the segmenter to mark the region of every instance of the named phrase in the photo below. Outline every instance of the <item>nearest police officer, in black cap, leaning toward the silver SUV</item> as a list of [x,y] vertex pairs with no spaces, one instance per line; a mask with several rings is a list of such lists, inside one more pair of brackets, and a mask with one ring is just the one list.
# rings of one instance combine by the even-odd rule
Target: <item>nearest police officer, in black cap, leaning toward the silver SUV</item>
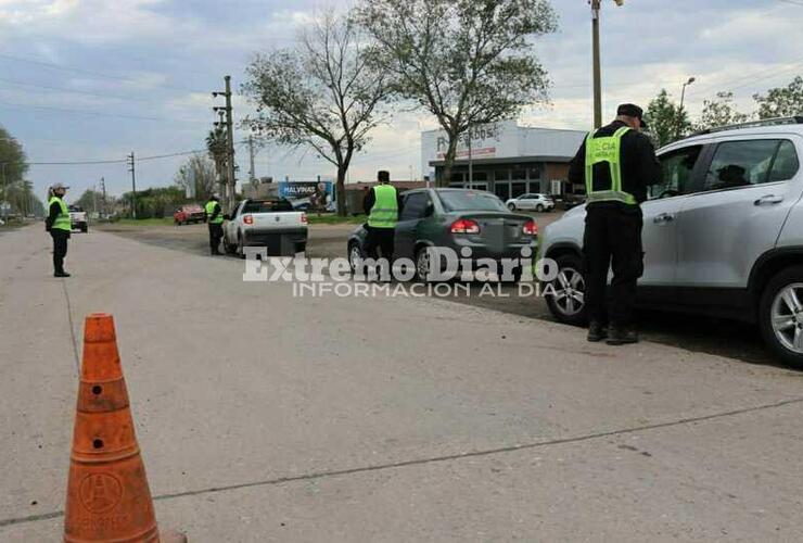
[[[620,105],[613,123],[588,135],[569,169],[571,182],[586,186],[583,253],[588,341],[638,342],[632,318],[636,281],[643,273],[639,204],[647,199],[647,187],[660,181],[655,150],[641,134],[647,128],[642,116],[637,105]],[[613,268],[610,312],[609,267]]]

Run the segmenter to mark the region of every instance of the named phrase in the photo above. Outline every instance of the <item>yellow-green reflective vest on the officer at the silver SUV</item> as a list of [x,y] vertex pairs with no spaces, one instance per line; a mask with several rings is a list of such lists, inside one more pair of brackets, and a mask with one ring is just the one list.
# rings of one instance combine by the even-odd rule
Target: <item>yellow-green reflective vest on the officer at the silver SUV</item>
[[[622,190],[622,136],[630,128],[623,126],[613,136],[586,137],[586,200],[591,202],[623,202],[636,205],[636,198]],[[594,188],[594,165],[607,162],[611,168],[611,186]]]

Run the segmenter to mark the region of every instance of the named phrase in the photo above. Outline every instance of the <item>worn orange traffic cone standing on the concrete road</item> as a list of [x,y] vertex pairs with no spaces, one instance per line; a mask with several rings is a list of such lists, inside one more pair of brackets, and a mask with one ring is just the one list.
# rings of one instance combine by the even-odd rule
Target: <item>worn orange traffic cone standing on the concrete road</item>
[[160,538],[140,457],[111,315],[87,317],[64,513],[64,541],[187,541]]

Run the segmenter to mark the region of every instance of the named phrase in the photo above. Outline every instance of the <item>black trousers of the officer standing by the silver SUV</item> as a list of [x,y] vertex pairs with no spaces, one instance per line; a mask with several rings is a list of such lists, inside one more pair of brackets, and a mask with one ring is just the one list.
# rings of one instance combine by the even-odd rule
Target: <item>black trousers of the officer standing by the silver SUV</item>
[[[636,281],[643,273],[641,210],[592,205],[586,212],[583,253],[586,308],[602,325],[628,326],[636,304]],[[611,305],[607,311],[608,270],[613,268]]]

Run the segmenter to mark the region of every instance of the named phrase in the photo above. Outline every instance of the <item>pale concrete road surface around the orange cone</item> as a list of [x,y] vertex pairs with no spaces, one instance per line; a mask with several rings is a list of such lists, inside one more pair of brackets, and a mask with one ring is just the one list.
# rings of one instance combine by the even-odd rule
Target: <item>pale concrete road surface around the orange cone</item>
[[0,254],[0,541],[60,538],[97,311],[160,522],[192,542],[803,539],[800,372],[443,300],[297,299],[107,232],[74,236],[67,280],[40,228]]

